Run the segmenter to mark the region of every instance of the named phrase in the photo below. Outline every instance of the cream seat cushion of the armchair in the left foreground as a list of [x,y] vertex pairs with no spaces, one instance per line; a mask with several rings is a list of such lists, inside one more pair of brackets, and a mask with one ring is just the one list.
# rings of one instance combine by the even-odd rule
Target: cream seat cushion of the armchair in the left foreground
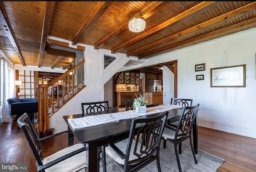
[[[43,164],[47,164],[48,162],[60,158],[61,156],[64,156],[70,152],[76,151],[82,147],[84,147],[84,145],[80,143],[72,145],[44,158],[42,162]],[[76,172],[78,170],[81,170],[82,168],[85,168],[85,161],[86,151],[83,151],[62,162],[59,162],[58,164],[55,164],[54,166],[51,166],[50,168],[47,168],[45,172]]]

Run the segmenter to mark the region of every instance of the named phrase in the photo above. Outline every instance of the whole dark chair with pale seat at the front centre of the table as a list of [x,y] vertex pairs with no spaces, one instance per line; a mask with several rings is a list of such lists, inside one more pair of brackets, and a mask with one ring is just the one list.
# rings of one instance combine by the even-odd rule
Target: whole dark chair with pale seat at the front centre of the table
[[[132,119],[128,139],[109,144],[106,154],[120,165],[124,172],[136,172],[154,160],[157,162],[158,172],[161,172],[159,147],[167,115],[168,112],[161,112],[152,117]],[[136,132],[136,126],[142,127]]]

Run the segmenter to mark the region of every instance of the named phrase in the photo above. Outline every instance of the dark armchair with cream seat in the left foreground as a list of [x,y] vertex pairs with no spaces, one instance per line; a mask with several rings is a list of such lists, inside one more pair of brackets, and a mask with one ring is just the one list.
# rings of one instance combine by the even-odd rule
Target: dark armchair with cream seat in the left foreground
[[24,113],[22,116],[20,116],[17,120],[17,123],[24,132],[30,148],[32,149],[32,152],[36,158],[36,166],[38,168],[38,172],[74,172],[86,167],[86,147],[80,143],[66,147],[45,158],[43,157],[40,141],[45,141],[58,135],[68,133],[68,130],[44,137],[42,139],[38,139],[27,113]]

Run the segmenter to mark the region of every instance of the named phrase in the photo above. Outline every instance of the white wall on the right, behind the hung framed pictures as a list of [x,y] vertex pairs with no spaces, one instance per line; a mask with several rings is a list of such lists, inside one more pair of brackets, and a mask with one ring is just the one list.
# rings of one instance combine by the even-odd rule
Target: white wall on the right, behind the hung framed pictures
[[[135,67],[178,60],[178,98],[200,104],[199,125],[256,138],[256,28],[164,53]],[[195,72],[205,63],[206,70]],[[211,88],[210,68],[246,64],[245,88]],[[196,75],[204,74],[204,80]]]

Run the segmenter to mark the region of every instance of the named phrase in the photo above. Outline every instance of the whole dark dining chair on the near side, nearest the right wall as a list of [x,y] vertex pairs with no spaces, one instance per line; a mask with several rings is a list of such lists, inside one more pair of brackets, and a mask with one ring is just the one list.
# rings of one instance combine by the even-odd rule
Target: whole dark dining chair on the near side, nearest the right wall
[[[192,126],[194,124],[194,121],[196,119],[196,113],[198,111],[198,107],[199,107],[199,104],[197,104],[196,106],[185,106],[181,112],[180,120],[178,122],[177,128],[174,129],[173,127],[169,127],[168,125],[166,125],[162,135],[162,137],[164,138],[164,143],[165,143],[164,145],[166,145],[166,140],[174,143],[176,159],[177,159],[178,168],[180,172],[182,172],[182,170],[180,166],[180,159],[178,156],[177,145],[179,145],[179,154],[181,154],[182,141],[188,138],[190,140],[190,146],[194,156],[194,161],[197,164],[196,155],[195,155],[194,147],[192,144],[191,131],[192,131]],[[164,149],[165,148],[166,147],[164,146]]]

